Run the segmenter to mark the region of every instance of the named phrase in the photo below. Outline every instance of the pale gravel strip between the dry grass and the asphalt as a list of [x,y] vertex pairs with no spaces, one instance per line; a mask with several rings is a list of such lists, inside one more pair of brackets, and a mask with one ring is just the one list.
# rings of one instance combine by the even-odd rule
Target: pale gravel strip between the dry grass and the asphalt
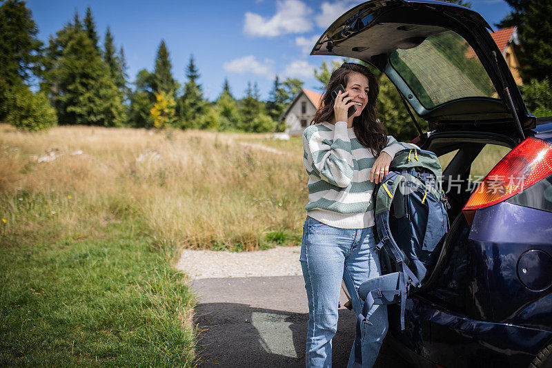
[[184,249],[177,269],[193,280],[302,275],[299,246],[277,246],[268,251],[228,252]]

